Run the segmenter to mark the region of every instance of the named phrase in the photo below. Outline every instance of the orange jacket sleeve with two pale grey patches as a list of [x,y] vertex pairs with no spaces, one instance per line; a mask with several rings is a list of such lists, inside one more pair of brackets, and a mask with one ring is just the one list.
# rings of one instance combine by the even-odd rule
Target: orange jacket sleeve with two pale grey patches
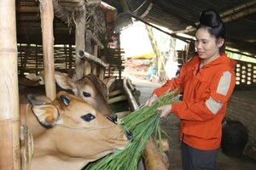
[[180,119],[189,121],[204,121],[215,116],[223,105],[226,105],[236,85],[236,77],[233,71],[219,71],[212,77],[208,98],[193,102],[177,102],[172,104],[172,113]]

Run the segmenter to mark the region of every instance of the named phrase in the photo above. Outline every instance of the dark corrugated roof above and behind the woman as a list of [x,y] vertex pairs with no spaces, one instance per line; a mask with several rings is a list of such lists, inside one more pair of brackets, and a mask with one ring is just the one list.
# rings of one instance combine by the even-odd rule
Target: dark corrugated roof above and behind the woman
[[[206,8],[216,8],[227,27],[226,45],[241,52],[256,54],[256,1],[247,0],[125,0],[131,14],[141,20],[164,26],[172,31],[183,31],[195,26],[199,15]],[[147,11],[148,7],[151,9]],[[143,18],[143,14],[148,12]],[[147,13],[146,12],[146,13]],[[186,32],[190,36],[195,31]]]

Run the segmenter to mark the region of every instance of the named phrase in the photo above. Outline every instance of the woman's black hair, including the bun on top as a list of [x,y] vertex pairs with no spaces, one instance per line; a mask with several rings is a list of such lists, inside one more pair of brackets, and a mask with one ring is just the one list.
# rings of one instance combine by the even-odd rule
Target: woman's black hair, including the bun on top
[[197,30],[205,28],[209,33],[218,38],[226,37],[226,28],[223,21],[221,20],[217,10],[213,8],[207,8],[202,11],[199,18],[200,24],[197,26]]

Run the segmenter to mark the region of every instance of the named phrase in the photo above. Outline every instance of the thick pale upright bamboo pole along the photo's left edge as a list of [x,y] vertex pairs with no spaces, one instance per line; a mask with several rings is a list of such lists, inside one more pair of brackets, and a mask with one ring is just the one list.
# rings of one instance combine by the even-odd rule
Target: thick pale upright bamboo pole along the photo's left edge
[[20,169],[15,0],[0,3],[0,169]]

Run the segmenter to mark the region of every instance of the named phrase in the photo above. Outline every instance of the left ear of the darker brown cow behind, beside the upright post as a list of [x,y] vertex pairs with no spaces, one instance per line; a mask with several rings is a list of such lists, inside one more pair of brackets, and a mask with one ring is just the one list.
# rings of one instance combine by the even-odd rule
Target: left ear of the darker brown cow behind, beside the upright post
[[63,89],[72,90],[75,88],[73,80],[59,71],[55,71],[55,81]]

